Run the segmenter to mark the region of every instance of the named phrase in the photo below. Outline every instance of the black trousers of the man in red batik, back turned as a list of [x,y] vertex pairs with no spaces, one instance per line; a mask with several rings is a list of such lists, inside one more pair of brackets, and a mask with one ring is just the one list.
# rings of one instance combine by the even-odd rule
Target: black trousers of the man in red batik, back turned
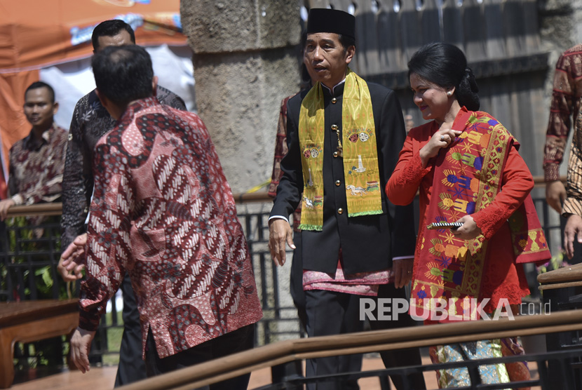
[[[253,324],[243,326],[243,328],[226,333],[226,335],[219,336],[207,342],[203,342],[202,344],[196,345],[196,347],[178,352],[167,358],[160,358],[156,349],[156,342],[154,342],[154,336],[151,335],[150,330],[147,335],[146,343],[147,376],[154,377],[180,368],[204,363],[212,359],[222,358],[223,356],[235,354],[236,352],[252,349],[254,345],[255,325]],[[250,372],[239,377],[211,384],[210,386],[204,386],[200,389],[246,390],[249,379]]]

